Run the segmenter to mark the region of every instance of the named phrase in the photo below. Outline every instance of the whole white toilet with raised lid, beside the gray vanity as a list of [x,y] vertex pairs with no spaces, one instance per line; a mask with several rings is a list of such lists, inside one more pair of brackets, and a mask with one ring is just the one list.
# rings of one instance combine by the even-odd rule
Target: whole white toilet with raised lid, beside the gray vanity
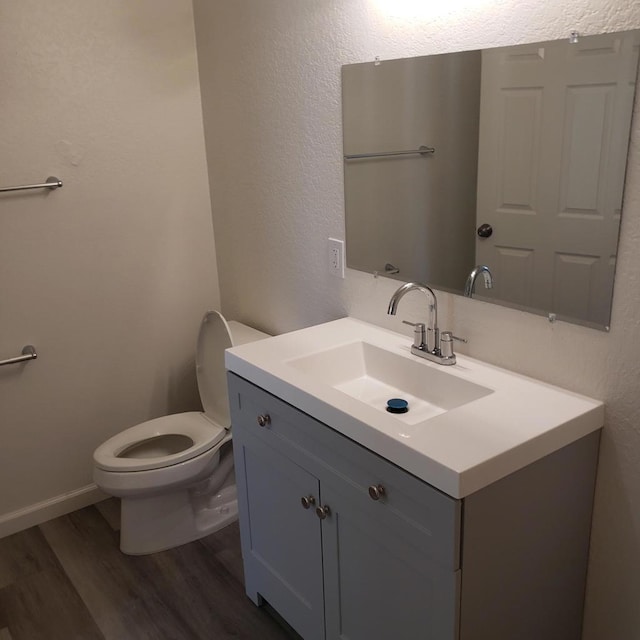
[[224,351],[266,337],[208,311],[196,349],[204,411],[148,420],[95,450],[94,482],[121,499],[123,553],[170,549],[238,518]]

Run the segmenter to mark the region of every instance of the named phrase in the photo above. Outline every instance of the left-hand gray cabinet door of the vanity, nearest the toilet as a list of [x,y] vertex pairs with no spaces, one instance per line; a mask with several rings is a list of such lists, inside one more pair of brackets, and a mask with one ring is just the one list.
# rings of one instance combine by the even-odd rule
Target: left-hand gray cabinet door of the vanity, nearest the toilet
[[301,503],[318,500],[319,482],[251,436],[236,435],[234,448],[247,594],[266,599],[305,640],[322,640],[320,520]]

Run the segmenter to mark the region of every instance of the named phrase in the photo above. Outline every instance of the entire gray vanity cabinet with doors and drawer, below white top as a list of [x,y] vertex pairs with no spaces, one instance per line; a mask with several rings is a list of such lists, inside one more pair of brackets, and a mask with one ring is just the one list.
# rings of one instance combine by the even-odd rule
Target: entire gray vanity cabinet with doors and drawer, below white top
[[597,434],[458,500],[233,373],[229,393],[246,591],[305,640],[579,639]]

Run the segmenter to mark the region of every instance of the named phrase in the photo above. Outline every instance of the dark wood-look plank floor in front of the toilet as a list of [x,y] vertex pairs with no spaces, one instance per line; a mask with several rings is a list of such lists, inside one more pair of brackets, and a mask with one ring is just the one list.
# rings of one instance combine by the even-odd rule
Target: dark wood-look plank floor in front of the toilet
[[0,540],[0,640],[291,640],[245,595],[237,523],[148,556],[106,500]]

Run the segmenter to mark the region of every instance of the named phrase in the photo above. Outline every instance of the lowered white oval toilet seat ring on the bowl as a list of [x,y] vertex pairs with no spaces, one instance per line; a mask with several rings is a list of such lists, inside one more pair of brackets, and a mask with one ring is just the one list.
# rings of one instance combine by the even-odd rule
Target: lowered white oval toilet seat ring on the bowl
[[[127,449],[162,436],[186,436],[193,444],[169,455],[144,458],[119,457]],[[199,411],[177,413],[147,420],[109,438],[93,454],[96,466],[105,471],[148,471],[179,464],[215,447],[227,430]]]

